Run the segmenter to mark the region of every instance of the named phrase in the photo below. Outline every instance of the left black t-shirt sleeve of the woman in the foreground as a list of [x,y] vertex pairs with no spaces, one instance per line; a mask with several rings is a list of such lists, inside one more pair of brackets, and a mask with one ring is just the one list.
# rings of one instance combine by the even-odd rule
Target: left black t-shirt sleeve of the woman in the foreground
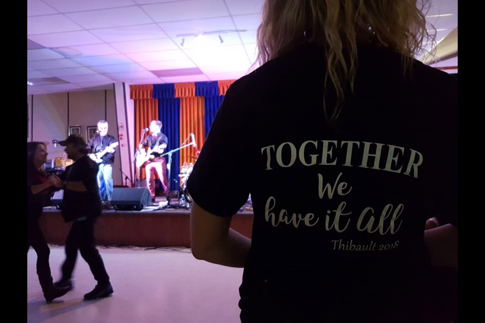
[[229,88],[187,181],[193,201],[216,216],[232,216],[248,200],[248,128],[244,103]]

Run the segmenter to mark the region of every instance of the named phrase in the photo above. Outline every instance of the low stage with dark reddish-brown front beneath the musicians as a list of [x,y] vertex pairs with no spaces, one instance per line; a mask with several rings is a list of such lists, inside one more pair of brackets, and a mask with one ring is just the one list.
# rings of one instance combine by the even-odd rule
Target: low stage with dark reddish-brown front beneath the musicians
[[[166,208],[164,198],[140,211],[103,210],[95,229],[96,244],[106,246],[190,247],[190,210]],[[172,204],[177,206],[177,202]],[[65,223],[61,211],[46,207],[40,218],[45,240],[64,244],[71,223]],[[253,212],[246,205],[232,218],[231,228],[251,238]]]

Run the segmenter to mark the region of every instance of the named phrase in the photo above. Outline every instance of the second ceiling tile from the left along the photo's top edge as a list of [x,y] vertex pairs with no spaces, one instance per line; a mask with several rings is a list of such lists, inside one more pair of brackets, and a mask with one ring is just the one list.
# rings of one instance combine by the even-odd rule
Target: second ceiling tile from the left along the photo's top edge
[[133,0],[44,0],[44,2],[60,12],[76,12],[106,8],[117,8],[133,6],[136,4]]

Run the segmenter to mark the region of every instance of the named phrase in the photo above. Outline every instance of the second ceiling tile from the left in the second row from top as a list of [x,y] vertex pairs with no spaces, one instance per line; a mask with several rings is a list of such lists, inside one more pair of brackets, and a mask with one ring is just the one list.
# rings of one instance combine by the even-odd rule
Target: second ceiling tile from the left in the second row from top
[[66,14],[86,29],[111,28],[152,23],[152,19],[139,7],[124,7]]

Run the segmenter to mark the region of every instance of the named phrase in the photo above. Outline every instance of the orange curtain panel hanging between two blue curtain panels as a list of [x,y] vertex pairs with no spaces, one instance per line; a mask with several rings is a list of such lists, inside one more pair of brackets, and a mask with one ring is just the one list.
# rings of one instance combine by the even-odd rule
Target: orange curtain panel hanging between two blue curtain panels
[[[192,96],[180,98],[180,145],[193,132],[196,137],[197,148],[193,146],[180,150],[180,166],[196,161],[196,149],[204,144],[204,97]],[[190,139],[185,142],[189,143]]]

